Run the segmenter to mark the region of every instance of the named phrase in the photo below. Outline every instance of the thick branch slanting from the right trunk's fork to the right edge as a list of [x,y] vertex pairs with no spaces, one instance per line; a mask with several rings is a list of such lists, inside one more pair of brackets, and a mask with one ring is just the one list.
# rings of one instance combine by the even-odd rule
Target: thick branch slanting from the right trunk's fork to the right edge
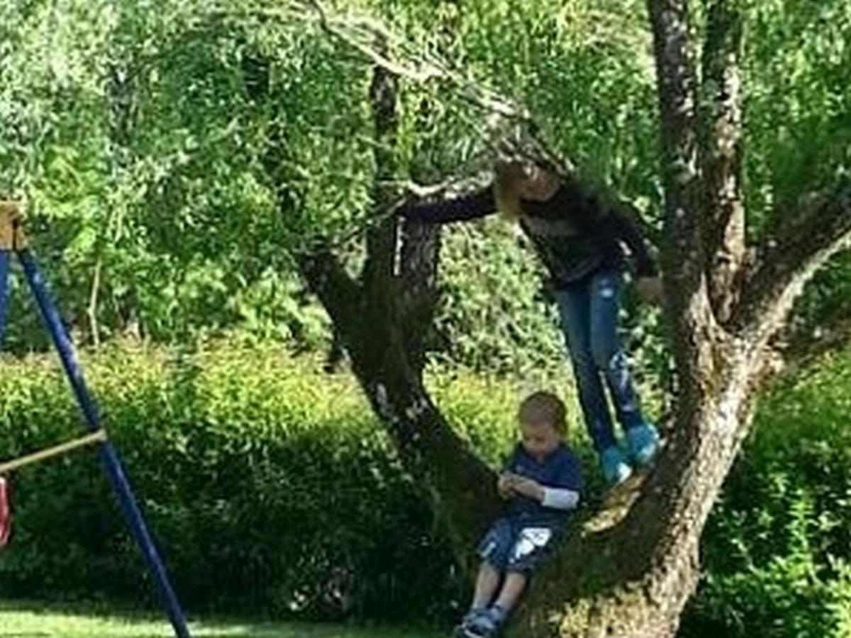
[[825,261],[851,242],[851,178],[831,195],[806,198],[797,223],[757,250],[732,324],[767,342],[783,328],[792,304]]

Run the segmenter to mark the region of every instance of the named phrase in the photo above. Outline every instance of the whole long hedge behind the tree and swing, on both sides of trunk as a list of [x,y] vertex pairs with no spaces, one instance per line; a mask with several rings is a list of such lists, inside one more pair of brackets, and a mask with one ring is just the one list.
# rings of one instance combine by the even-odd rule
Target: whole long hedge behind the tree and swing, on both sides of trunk
[[[238,345],[113,345],[84,365],[191,610],[447,618],[465,599],[437,521],[349,375]],[[499,463],[517,398],[534,384],[435,372],[430,385]],[[765,397],[707,527],[683,638],[851,632],[848,387],[851,355]],[[575,434],[575,411],[571,422]],[[53,358],[0,365],[3,458],[74,436],[78,423]],[[594,489],[591,453],[580,453]],[[91,453],[21,470],[14,483],[0,595],[151,603]]]

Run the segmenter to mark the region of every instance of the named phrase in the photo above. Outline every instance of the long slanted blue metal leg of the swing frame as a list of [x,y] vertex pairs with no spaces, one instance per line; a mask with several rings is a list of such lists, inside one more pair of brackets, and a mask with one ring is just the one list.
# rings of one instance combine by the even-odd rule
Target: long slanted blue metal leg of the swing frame
[[[56,350],[59,351],[62,366],[65,368],[68,380],[71,382],[71,388],[73,388],[74,395],[77,397],[77,403],[80,409],[83,410],[86,424],[90,430],[98,430],[100,429],[98,409],[94,405],[91,396],[89,396],[89,390],[86,388],[85,381],[83,380],[83,370],[74,356],[71,340],[68,339],[68,334],[66,333],[65,326],[62,325],[59,312],[50,299],[42,272],[38,269],[36,259],[29,249],[18,251],[18,256],[20,257],[20,263],[24,266],[26,280],[29,282],[32,293],[36,297],[42,318],[45,324],[47,324]],[[168,612],[168,618],[174,627],[174,634],[178,638],[191,638],[189,629],[186,628],[186,618],[180,608],[180,602],[177,600],[177,595],[174,594],[174,590],[168,582],[168,575],[166,574],[165,567],[163,567],[163,561],[157,554],[157,548],[154,546],[151,534],[148,532],[145,519],[139,510],[139,505],[136,504],[133,490],[130,487],[127,477],[124,476],[124,470],[121,460],[118,458],[118,453],[109,441],[106,441],[100,446],[99,453],[100,461],[104,465],[106,475],[109,477],[112,488],[117,494],[118,502],[121,504],[124,516],[129,522],[130,529],[136,538],[136,542],[139,544],[142,555],[145,556],[154,581],[157,583],[163,605]]]

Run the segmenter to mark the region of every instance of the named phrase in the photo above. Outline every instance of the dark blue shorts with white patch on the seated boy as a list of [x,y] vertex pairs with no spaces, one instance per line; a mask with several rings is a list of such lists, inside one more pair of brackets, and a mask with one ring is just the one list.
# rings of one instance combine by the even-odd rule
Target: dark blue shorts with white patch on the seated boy
[[497,519],[478,546],[478,554],[499,572],[529,573],[551,547],[557,527],[518,516]]

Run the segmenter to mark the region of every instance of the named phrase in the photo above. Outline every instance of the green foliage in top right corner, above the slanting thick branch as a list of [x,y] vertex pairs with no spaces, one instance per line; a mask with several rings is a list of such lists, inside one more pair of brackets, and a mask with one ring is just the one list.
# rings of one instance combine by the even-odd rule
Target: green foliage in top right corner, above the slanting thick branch
[[[751,216],[794,214],[802,193],[851,170],[851,8],[848,3],[751,3],[745,52],[745,173]],[[782,218],[787,219],[782,219]]]

